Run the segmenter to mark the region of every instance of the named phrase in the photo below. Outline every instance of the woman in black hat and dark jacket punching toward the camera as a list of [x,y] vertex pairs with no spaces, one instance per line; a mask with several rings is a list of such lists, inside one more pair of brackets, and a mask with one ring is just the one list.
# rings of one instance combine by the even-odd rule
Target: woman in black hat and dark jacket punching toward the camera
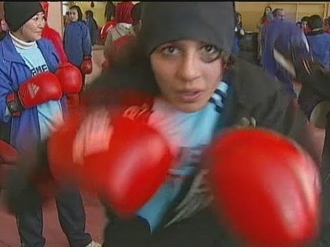
[[[172,121],[169,117],[157,127],[167,135],[180,133],[184,154],[177,172],[195,162],[192,154],[200,154],[210,141],[204,137],[233,125],[281,132],[317,159],[307,119],[292,97],[261,68],[235,61],[233,40],[232,2],[144,2],[137,43],[85,92],[85,103],[96,107],[120,104],[117,93],[131,89],[154,95],[134,105],[148,105],[150,122],[168,110],[173,112]],[[217,97],[225,104],[219,104]],[[208,117],[201,117],[206,112]],[[202,137],[200,141],[197,136]],[[202,174],[197,165],[185,180],[172,178],[134,219],[123,220],[108,208],[103,246],[239,245],[215,220],[208,193],[201,192],[205,191],[203,183],[197,183]]]

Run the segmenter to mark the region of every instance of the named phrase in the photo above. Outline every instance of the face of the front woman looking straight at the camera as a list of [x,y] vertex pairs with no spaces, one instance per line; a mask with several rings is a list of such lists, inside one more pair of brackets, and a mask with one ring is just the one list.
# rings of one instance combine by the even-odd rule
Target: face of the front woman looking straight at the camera
[[162,97],[186,113],[206,106],[223,76],[220,51],[197,40],[159,45],[151,67]]

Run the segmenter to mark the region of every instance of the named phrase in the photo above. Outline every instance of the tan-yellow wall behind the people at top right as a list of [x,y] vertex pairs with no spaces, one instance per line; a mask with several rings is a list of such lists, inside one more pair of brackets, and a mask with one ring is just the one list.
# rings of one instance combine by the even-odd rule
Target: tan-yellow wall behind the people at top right
[[263,15],[267,5],[272,9],[283,8],[286,18],[300,21],[303,16],[319,14],[323,18],[330,15],[329,2],[235,2],[236,11],[242,14],[243,27],[247,31],[256,31],[256,24]]

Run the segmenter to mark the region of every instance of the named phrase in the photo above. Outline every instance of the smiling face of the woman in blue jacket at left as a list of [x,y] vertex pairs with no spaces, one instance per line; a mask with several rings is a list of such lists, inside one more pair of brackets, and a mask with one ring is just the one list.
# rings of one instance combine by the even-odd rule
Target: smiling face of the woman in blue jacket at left
[[43,27],[45,27],[45,14],[38,12],[17,30],[15,34],[25,42],[32,42],[41,38]]

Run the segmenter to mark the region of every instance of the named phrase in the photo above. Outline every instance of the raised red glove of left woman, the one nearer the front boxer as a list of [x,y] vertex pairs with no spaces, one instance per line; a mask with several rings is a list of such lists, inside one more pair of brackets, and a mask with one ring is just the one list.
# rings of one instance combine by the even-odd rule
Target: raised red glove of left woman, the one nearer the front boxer
[[61,84],[64,94],[80,93],[83,87],[83,76],[76,66],[69,62],[64,62],[58,67],[55,75]]

